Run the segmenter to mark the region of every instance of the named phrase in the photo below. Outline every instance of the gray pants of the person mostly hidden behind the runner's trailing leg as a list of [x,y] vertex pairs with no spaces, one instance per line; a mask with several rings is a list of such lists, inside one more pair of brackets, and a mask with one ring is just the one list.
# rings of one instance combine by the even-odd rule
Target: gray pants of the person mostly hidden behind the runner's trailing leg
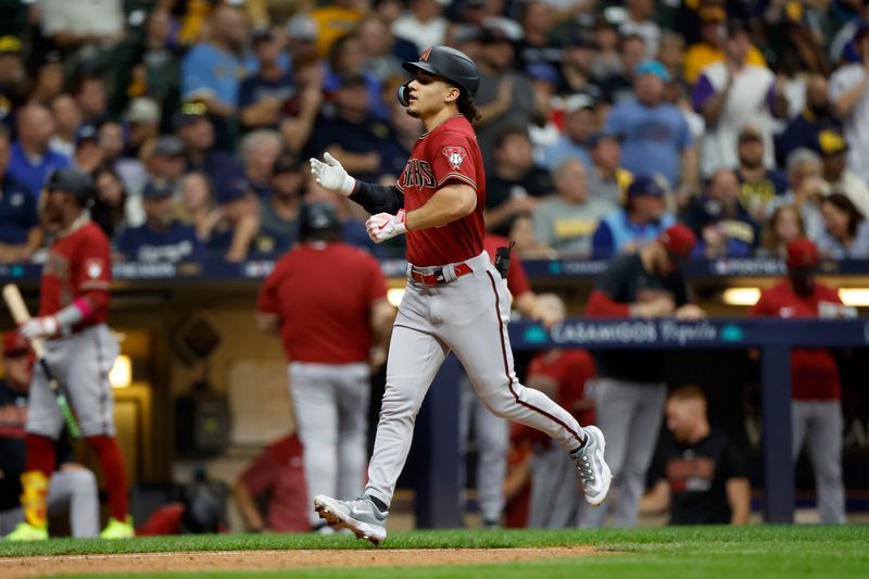
[[[507,476],[509,423],[486,410],[467,376],[459,379],[458,395],[459,488],[465,488],[464,456],[467,453],[473,420],[477,440],[477,495],[480,514],[483,521],[500,523],[504,512],[504,479]],[[572,462],[570,464],[572,465]]]

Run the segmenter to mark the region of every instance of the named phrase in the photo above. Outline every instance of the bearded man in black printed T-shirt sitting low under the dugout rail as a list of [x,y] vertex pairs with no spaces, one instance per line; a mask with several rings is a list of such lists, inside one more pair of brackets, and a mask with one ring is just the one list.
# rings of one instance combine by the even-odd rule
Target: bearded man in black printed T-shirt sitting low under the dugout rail
[[667,429],[658,445],[652,490],[640,511],[669,508],[670,525],[745,525],[751,484],[745,457],[728,437],[709,426],[706,395],[689,385],[667,400]]

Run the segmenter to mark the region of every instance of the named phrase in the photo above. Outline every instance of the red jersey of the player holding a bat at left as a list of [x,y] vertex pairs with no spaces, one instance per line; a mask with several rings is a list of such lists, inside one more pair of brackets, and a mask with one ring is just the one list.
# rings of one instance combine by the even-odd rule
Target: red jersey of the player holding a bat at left
[[109,239],[93,222],[59,236],[51,244],[42,268],[39,315],[56,314],[86,293],[101,292],[91,300],[93,314],[80,326],[102,324],[109,315],[112,257]]

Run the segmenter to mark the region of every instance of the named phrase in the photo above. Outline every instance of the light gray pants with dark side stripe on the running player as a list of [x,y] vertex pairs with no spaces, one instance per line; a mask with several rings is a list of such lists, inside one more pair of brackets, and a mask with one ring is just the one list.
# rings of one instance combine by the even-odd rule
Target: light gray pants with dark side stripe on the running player
[[507,337],[506,282],[486,252],[466,263],[473,273],[457,279],[452,265],[445,267],[446,278],[453,279],[449,284],[408,281],[399,307],[365,489],[387,505],[404,468],[423,399],[451,350],[492,414],[538,428],[568,451],[584,436],[570,413],[519,383]]

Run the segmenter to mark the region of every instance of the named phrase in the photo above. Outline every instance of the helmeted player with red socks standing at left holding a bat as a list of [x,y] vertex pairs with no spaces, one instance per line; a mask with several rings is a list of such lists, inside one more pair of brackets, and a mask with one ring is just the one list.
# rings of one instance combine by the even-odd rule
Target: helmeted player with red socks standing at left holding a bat
[[[84,209],[93,185],[71,168],[52,173],[42,190],[46,227],[54,242],[42,269],[39,316],[23,324],[26,339],[46,339],[46,362],[66,387],[78,417],[81,435],[97,451],[109,492],[109,525],[101,537],[134,536],[127,514],[127,481],[124,457],[115,440],[113,399],[109,370],[117,355],[117,342],[105,326],[109,314],[111,250],[102,230]],[[54,470],[54,440],[64,420],[40,366],[30,385],[27,416],[26,471],[22,475],[24,523],[7,538],[29,541],[48,539],[46,494]]]

